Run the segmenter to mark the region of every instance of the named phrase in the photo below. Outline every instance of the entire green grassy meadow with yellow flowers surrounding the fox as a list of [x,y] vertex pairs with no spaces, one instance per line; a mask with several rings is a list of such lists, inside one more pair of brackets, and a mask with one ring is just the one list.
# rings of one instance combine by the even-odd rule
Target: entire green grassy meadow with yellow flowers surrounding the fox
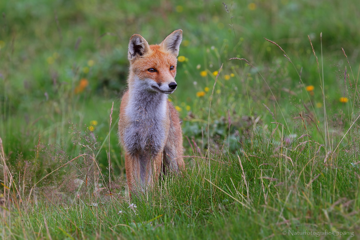
[[[360,238],[359,9],[0,1],[1,237]],[[176,29],[186,170],[129,199],[129,39]]]

